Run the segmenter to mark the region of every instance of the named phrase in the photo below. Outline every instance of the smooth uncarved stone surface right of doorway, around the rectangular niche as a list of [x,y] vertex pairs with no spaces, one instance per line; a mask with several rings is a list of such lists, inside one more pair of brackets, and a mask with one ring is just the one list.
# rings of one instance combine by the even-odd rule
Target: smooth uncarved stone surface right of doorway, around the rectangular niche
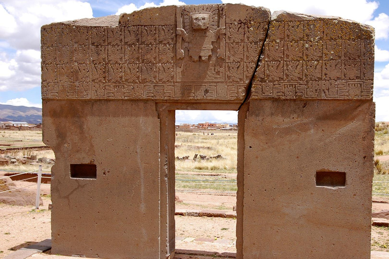
[[[369,258],[373,126],[370,100],[250,99],[243,258]],[[316,186],[323,168],[345,187]]]

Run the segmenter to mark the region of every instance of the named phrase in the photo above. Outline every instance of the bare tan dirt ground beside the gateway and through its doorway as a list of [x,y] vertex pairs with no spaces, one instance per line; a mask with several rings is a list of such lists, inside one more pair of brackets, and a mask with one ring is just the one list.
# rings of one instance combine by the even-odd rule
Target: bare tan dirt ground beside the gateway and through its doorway
[[[19,183],[18,183],[19,184]],[[34,187],[29,187],[34,188]],[[35,187],[36,188],[36,187]],[[34,206],[0,204],[0,258],[21,247],[51,237],[50,186],[43,185],[44,205]],[[231,211],[235,196],[215,196],[195,193],[177,193],[181,209],[220,209]],[[373,211],[389,209],[389,203],[374,202]],[[236,219],[175,216],[176,249],[236,252]],[[389,251],[389,228],[372,227],[372,250]],[[184,257],[182,257],[184,258]],[[185,257],[186,258],[186,257]]]

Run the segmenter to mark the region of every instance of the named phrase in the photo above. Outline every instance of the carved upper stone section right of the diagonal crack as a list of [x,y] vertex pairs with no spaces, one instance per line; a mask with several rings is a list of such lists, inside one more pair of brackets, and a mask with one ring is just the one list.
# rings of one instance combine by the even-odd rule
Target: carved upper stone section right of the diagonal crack
[[338,17],[275,12],[252,99],[373,98],[374,29]]

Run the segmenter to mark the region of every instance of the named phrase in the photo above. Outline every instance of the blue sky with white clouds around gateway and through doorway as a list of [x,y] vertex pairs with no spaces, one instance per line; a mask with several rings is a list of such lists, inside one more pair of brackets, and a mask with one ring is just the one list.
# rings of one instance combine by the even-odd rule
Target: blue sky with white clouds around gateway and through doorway
[[[242,3],[271,12],[340,16],[372,25],[375,34],[376,121],[389,121],[389,1],[387,0],[0,0],[0,104],[42,107],[40,27],[79,18],[130,13],[163,5]],[[232,111],[177,111],[176,122],[236,122]]]

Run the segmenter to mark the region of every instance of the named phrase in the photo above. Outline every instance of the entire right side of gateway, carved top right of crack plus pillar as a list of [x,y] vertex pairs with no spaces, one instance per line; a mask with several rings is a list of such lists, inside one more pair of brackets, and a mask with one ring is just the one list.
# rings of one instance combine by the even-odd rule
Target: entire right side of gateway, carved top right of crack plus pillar
[[373,64],[373,28],[274,14],[240,110],[237,258],[370,258]]

